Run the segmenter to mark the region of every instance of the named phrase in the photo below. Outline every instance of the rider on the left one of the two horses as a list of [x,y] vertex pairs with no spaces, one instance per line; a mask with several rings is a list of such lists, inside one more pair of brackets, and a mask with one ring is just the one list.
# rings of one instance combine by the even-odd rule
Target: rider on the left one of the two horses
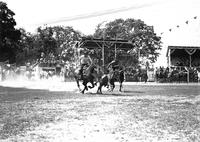
[[88,67],[92,64],[92,59],[89,56],[89,53],[87,51],[83,51],[81,53],[82,55],[80,56],[80,70],[79,70],[79,74],[81,75],[81,79],[83,79],[83,70],[84,67]]

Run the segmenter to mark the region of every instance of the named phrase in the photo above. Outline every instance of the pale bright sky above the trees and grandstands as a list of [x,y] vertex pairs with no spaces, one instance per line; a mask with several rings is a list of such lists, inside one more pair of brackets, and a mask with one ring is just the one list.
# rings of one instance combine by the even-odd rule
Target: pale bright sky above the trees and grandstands
[[[3,1],[15,13],[17,27],[31,33],[36,32],[37,27],[47,24],[72,26],[89,35],[104,21],[118,18],[141,19],[147,25],[153,26],[157,35],[162,37],[163,47],[155,66],[167,65],[166,52],[169,45],[200,46],[199,0]],[[172,29],[171,32],[169,29]]]

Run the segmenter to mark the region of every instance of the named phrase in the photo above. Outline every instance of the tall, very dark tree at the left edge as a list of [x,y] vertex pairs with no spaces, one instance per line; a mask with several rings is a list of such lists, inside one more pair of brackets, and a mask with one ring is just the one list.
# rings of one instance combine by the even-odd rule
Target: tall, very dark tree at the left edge
[[15,29],[15,13],[11,11],[7,4],[0,1],[0,61],[9,60],[15,62],[20,31]]

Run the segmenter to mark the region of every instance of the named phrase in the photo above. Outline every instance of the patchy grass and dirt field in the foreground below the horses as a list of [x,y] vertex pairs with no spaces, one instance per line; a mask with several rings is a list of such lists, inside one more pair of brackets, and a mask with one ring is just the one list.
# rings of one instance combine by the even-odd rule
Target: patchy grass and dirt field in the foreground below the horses
[[0,86],[0,141],[200,141],[200,84],[126,84],[122,93],[118,86],[103,93]]

